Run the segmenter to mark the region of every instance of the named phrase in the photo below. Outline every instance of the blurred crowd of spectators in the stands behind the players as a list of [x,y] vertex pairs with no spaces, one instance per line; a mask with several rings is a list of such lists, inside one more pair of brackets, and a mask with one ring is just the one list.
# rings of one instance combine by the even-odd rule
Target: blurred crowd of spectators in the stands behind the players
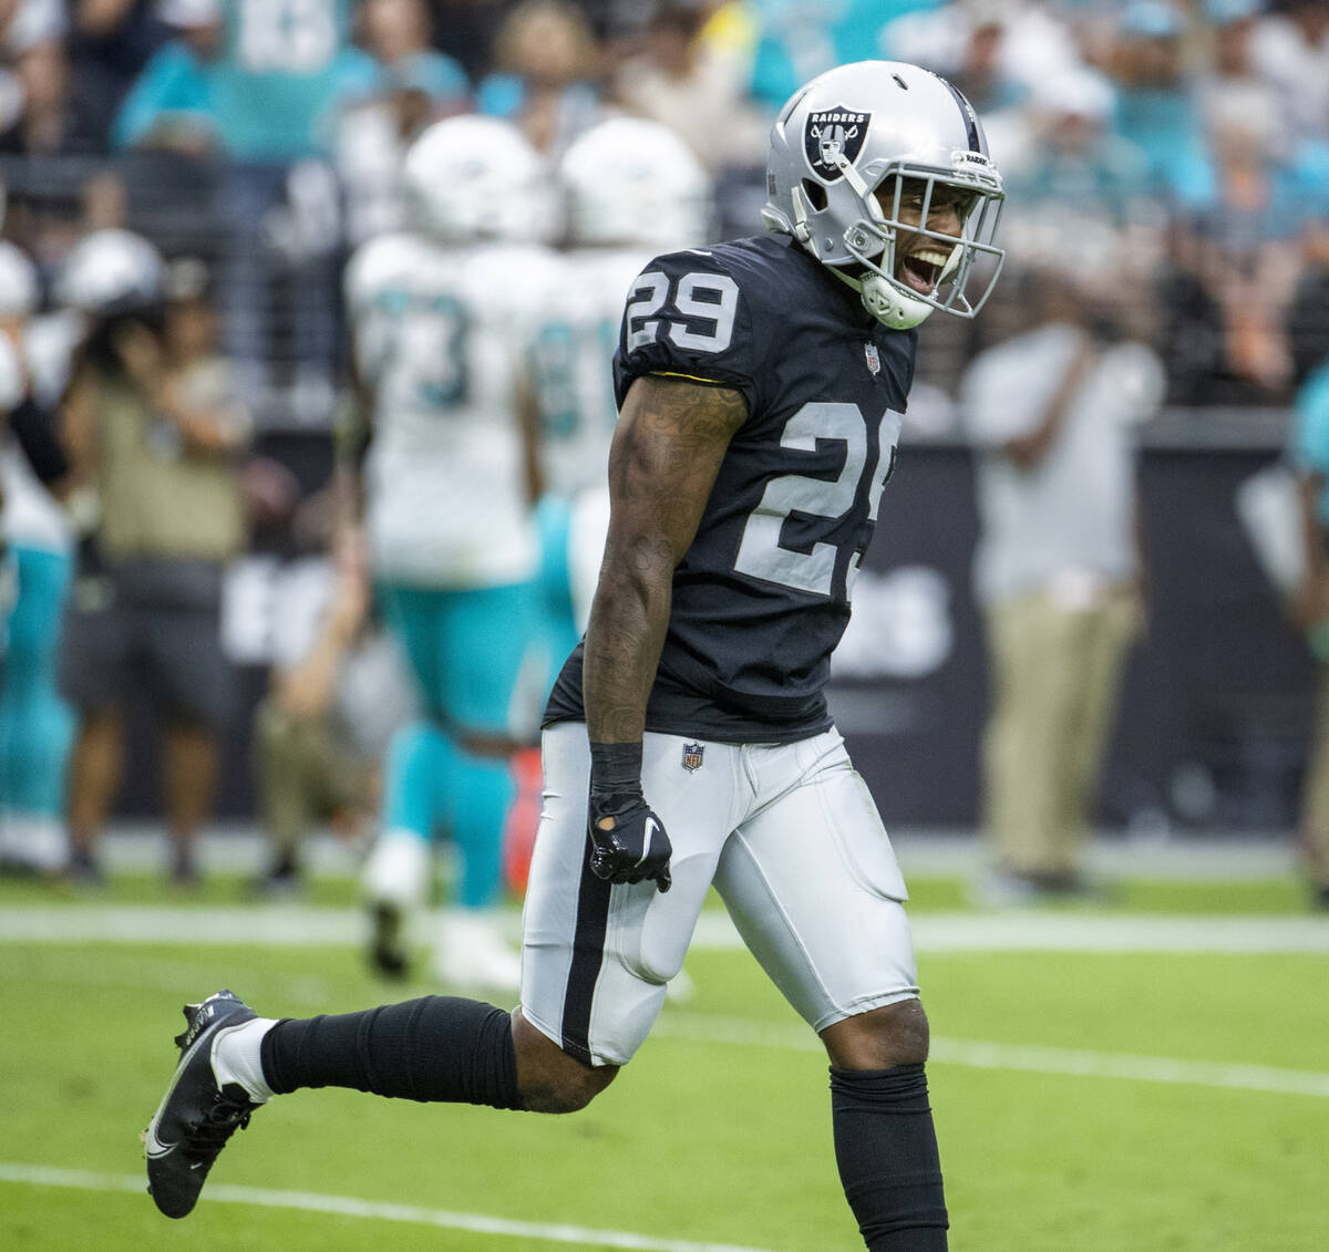
[[[1170,403],[1280,404],[1325,334],[1326,32],[1322,0],[5,0],[5,233],[44,270],[126,218],[167,253],[211,251],[259,421],[318,423],[339,263],[401,223],[401,156],[429,121],[513,118],[554,161],[606,110],[654,118],[732,237],[793,88],[897,57],[975,104],[1013,267],[1074,268],[1158,348]],[[118,222],[105,203],[77,221],[98,159],[132,178]],[[974,334],[1003,334],[1001,302]]]

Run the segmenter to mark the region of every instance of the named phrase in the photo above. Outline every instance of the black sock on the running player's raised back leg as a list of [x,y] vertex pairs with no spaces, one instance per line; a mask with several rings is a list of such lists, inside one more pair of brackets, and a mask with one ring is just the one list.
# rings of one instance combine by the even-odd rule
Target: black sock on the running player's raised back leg
[[518,1108],[512,1018],[502,1009],[425,995],[339,1017],[286,1018],[263,1037],[278,1094],[354,1087],[421,1102]]

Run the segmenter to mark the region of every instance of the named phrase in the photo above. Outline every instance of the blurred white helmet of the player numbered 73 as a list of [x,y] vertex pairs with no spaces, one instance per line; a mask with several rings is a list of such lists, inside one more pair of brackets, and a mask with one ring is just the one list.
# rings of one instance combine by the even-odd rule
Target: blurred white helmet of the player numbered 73
[[428,128],[403,169],[415,226],[443,243],[548,233],[540,154],[512,122],[464,114]]

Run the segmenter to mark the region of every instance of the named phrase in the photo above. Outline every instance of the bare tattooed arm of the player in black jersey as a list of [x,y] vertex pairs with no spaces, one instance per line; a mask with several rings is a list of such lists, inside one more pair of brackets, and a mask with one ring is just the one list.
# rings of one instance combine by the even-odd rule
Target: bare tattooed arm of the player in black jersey
[[727,387],[646,376],[627,393],[609,456],[609,536],[586,627],[582,695],[593,743],[642,738],[674,568],[746,419],[747,403]]

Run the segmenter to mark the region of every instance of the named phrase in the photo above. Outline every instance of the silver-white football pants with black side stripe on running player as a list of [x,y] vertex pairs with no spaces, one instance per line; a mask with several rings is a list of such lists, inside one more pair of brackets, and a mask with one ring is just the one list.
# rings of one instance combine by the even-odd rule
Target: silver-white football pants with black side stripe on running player
[[544,734],[521,1003],[570,1055],[623,1065],[682,969],[714,884],[744,942],[813,1030],[917,997],[904,879],[835,730],[785,744],[647,734],[642,783],[674,847],[674,887],[586,868],[582,723]]

